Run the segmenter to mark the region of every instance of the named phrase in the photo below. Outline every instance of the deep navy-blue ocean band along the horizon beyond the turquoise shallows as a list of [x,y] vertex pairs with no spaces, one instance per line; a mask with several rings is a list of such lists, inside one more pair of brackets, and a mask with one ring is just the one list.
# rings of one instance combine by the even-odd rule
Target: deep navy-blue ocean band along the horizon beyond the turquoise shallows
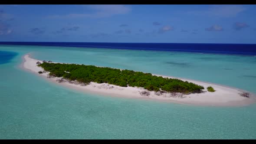
[[212,43],[64,43],[64,42],[0,42],[0,45],[69,46],[107,49],[135,49],[180,52],[204,52],[256,56],[256,44]]

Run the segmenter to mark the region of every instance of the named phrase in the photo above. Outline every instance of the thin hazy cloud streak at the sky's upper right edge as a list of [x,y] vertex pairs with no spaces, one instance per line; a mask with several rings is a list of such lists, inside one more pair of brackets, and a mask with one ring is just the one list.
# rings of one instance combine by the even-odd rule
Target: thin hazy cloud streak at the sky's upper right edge
[[236,17],[245,10],[241,5],[212,5],[208,10],[194,10],[188,13],[197,16]]

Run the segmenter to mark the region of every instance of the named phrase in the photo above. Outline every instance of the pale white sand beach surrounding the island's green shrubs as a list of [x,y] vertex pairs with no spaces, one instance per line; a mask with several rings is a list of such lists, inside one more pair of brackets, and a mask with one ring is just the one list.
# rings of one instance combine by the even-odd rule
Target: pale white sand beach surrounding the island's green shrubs
[[[39,71],[44,71],[41,67],[36,65],[36,62],[43,63],[42,60],[36,60],[30,58],[30,55],[27,54],[23,57],[23,68],[28,69],[34,72],[36,75],[40,75],[42,77],[47,78],[49,72],[44,72],[43,74],[39,74]],[[160,75],[158,75],[160,76]],[[162,75],[161,75],[162,76]],[[174,78],[171,76],[162,76],[168,78]],[[189,94],[184,95],[184,98],[174,98],[170,96],[168,93],[164,93],[161,95],[157,95],[155,92],[150,92],[148,96],[142,96],[140,92],[145,91],[144,88],[135,88],[135,87],[120,87],[116,85],[109,85],[106,83],[98,84],[95,82],[91,82],[89,85],[78,85],[69,82],[61,82],[59,83],[58,80],[61,78],[47,78],[52,82],[55,82],[59,85],[74,88],[76,90],[82,92],[90,92],[96,93],[101,95],[110,95],[116,97],[124,97],[124,98],[142,98],[148,100],[158,100],[158,101],[165,101],[165,102],[174,102],[179,104],[192,104],[192,105],[211,105],[211,106],[244,106],[254,103],[255,97],[251,96],[250,98],[244,98],[238,95],[238,93],[243,92],[242,90],[236,88],[230,88],[222,85],[217,84],[210,84],[207,82],[199,82],[190,79],[181,79],[183,81],[193,82],[197,85],[203,86],[205,89],[204,93],[200,94]],[[207,87],[212,86],[216,92],[207,92]],[[147,91],[147,90],[146,90]]]

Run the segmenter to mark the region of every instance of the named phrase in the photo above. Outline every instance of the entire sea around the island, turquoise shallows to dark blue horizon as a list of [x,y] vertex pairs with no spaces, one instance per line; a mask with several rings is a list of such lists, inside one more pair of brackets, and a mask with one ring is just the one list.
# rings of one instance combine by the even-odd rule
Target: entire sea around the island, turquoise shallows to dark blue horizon
[[192,106],[92,95],[20,68],[22,56],[31,52],[35,59],[169,75],[256,94],[256,45],[0,44],[0,139],[256,138],[256,104]]

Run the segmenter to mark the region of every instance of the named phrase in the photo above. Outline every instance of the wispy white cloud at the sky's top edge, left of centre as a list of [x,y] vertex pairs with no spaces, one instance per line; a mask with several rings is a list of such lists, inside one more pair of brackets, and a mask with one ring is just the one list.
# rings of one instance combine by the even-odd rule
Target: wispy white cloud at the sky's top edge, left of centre
[[70,13],[67,15],[52,15],[49,18],[102,18],[111,17],[120,14],[126,14],[131,11],[130,7],[125,5],[85,5],[85,7],[94,11],[94,13]]

